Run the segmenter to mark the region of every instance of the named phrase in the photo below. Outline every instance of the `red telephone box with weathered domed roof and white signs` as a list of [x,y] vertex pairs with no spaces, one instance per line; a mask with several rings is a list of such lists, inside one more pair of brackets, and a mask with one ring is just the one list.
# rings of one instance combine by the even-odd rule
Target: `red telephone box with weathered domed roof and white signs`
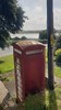
[[13,45],[17,101],[45,89],[45,45],[21,41]]

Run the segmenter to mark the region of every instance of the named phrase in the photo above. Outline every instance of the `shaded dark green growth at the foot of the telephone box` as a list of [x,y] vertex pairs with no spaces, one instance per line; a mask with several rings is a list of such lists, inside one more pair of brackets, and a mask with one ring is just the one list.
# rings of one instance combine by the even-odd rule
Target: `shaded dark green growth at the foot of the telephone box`
[[25,110],[46,110],[45,94],[29,95],[25,100]]

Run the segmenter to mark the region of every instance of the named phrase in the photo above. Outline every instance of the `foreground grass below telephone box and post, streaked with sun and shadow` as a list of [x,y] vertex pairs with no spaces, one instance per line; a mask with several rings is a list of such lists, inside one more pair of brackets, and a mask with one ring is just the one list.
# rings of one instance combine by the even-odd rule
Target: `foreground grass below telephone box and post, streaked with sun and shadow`
[[29,95],[23,107],[25,110],[61,110],[61,89],[57,87],[54,90],[46,90],[45,95]]

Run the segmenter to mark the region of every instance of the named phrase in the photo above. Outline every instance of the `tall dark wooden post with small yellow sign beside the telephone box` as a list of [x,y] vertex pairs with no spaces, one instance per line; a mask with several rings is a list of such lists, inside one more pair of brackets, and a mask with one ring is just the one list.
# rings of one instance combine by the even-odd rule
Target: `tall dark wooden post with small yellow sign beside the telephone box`
[[53,0],[47,0],[47,33],[48,33],[48,86],[53,86]]

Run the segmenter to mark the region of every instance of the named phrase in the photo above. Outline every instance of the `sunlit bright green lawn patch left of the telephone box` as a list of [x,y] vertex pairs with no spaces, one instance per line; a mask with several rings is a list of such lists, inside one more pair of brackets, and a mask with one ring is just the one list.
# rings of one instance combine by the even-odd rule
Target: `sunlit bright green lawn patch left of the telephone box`
[[13,55],[0,57],[0,74],[13,70]]

